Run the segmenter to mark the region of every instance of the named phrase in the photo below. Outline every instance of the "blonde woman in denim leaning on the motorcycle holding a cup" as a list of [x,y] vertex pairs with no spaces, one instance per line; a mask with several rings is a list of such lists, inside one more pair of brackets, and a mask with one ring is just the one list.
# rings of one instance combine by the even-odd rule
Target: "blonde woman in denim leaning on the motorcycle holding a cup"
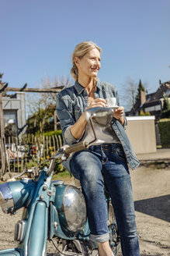
[[[116,87],[97,80],[100,53],[101,48],[92,41],[78,44],[73,52],[71,75],[75,79],[75,85],[57,95],[57,114],[61,121],[65,144],[74,144],[85,137],[87,108],[106,107],[105,99],[113,97],[118,104]],[[103,180],[112,198],[123,255],[140,255],[134,199],[127,167],[127,162],[132,169],[139,163],[124,131],[126,125],[123,107],[119,107],[115,110],[110,123],[108,133],[112,135],[112,139],[109,143],[79,151],[66,162],[67,169],[71,169],[75,178],[81,182],[87,205],[91,240],[97,242],[99,256],[113,255],[109,247]]]

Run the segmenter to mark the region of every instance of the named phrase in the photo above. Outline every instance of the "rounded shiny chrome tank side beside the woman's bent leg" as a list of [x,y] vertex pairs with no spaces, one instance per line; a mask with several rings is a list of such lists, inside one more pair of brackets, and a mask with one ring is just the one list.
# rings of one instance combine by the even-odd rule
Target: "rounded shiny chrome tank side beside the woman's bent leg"
[[85,197],[74,186],[56,187],[55,206],[59,213],[61,226],[67,231],[77,233],[87,219]]

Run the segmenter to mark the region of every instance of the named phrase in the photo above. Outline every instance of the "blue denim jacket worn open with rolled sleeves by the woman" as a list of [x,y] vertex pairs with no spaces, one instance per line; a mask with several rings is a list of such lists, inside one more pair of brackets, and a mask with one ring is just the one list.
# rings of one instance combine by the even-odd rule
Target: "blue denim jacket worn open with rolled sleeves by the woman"
[[[106,82],[97,82],[95,89],[95,98],[116,98],[116,104],[119,105],[119,99],[117,95],[116,87],[112,84]],[[74,86],[65,88],[59,94],[57,94],[57,116],[61,121],[62,135],[64,137],[64,144],[75,144],[78,141],[71,134],[71,126],[79,119],[85,108],[88,107],[88,94],[85,87],[75,82]],[[125,126],[127,126],[127,119],[125,119]],[[123,146],[123,151],[127,157],[127,162],[130,164],[131,169],[135,169],[139,162],[137,156],[135,155],[131,145],[130,140],[127,137],[124,126],[113,117],[111,121],[111,126],[116,133],[116,136],[120,139],[120,143]],[[64,161],[63,164],[70,171],[69,161]]]

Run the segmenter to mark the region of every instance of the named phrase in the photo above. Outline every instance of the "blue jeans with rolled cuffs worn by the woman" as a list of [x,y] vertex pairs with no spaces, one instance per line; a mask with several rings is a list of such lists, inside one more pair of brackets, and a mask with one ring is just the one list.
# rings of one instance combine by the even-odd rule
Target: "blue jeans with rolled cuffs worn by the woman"
[[75,153],[71,172],[80,180],[91,239],[109,240],[104,183],[112,199],[123,255],[140,255],[130,173],[121,144],[91,146]]

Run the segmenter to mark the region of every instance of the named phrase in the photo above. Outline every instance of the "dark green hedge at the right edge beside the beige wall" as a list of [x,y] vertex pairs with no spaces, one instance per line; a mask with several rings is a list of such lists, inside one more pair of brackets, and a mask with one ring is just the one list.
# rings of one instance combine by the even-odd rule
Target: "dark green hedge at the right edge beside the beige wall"
[[161,136],[162,148],[170,147],[170,119],[160,119],[158,123],[159,133]]

